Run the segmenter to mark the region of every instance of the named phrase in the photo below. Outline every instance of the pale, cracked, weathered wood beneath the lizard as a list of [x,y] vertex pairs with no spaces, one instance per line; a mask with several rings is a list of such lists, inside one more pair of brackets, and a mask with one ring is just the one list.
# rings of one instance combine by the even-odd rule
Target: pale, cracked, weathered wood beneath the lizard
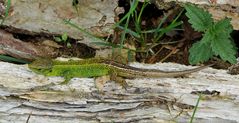
[[[173,63],[132,64],[142,68],[183,70]],[[212,68],[184,78],[131,79],[126,90],[107,82],[99,92],[92,78],[74,78],[68,85],[31,91],[61,77],[44,77],[26,65],[0,62],[0,122],[188,122],[204,95],[196,122],[239,122],[239,75]]]

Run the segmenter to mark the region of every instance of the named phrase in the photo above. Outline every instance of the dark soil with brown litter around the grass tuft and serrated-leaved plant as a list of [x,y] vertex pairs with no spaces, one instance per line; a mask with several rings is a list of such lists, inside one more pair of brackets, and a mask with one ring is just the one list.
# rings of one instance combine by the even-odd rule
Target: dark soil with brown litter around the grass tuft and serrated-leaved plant
[[[138,13],[141,10],[143,3],[140,3],[137,10]],[[126,10],[129,10],[129,3],[127,1],[121,1],[119,5],[123,6]],[[174,18],[179,14],[182,8],[171,8],[168,10],[159,10],[154,4],[148,5],[142,14],[142,30],[155,29],[157,25],[160,23],[162,18],[165,15],[168,15],[163,27],[169,26],[169,24],[173,21]],[[124,14],[120,15],[123,17]],[[188,23],[188,18],[185,16],[185,12],[180,16],[179,20],[183,21],[183,24],[179,29],[181,30],[173,30],[168,34],[162,36],[160,38],[157,46],[152,48],[155,54],[145,55],[146,53],[137,53],[136,59],[138,61],[143,61],[147,63],[155,63],[155,62],[177,62],[181,64],[189,64],[188,56],[189,56],[189,48],[193,43],[200,40],[202,38],[202,34],[194,31],[191,25]],[[135,30],[134,20],[131,19],[129,27],[132,30]],[[239,46],[239,31],[234,30],[232,33],[232,38],[235,41],[237,47]],[[146,43],[152,43],[153,35],[148,35],[145,40]],[[136,46],[141,47],[140,44],[136,44]],[[160,52],[158,52],[161,49]],[[227,68],[230,64],[221,61],[219,58],[214,58],[210,60],[208,63],[217,64],[218,68]]]

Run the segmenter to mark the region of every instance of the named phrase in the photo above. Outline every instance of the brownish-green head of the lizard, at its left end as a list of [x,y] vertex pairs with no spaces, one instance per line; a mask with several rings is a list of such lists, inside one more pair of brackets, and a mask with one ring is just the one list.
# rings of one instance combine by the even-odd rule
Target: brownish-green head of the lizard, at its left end
[[51,59],[37,59],[32,63],[28,64],[28,67],[36,72],[44,74],[52,69],[53,62]]

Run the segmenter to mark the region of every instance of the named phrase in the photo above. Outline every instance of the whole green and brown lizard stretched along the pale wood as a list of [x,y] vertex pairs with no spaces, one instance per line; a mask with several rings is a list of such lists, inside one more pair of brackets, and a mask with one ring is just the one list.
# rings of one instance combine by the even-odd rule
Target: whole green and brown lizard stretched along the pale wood
[[99,77],[111,75],[111,79],[123,82],[121,78],[145,78],[145,77],[176,77],[202,70],[208,66],[184,71],[161,71],[156,69],[141,69],[113,60],[92,58],[86,60],[57,61],[50,59],[38,59],[28,65],[31,70],[45,76],[63,76],[65,82],[73,77]]

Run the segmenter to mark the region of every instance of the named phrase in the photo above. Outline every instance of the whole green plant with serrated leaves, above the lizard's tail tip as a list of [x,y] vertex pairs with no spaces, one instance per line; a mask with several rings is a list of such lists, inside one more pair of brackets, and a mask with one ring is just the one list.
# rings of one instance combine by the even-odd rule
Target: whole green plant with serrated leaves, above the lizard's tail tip
[[231,19],[225,18],[214,22],[209,12],[195,5],[186,4],[185,9],[189,23],[196,31],[203,33],[203,38],[194,43],[189,50],[189,63],[197,64],[213,56],[220,56],[222,60],[235,64],[237,48],[230,36],[233,31]]

